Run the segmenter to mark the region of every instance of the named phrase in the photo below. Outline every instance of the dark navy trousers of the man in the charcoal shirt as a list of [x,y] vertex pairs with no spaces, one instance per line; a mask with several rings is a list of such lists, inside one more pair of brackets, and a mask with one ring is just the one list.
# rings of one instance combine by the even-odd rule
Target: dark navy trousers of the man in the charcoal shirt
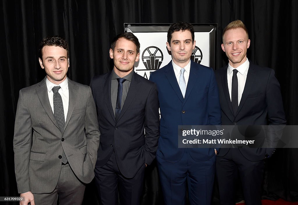
[[118,205],[118,187],[121,205],[139,205],[143,190],[145,163],[133,178],[123,176],[115,153],[102,167],[95,167],[95,182],[102,205]]

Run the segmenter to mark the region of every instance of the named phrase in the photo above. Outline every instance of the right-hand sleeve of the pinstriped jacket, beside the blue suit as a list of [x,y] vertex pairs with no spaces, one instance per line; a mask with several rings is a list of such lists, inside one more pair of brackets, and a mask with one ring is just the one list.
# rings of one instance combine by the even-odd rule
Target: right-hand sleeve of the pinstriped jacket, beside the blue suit
[[152,86],[145,107],[145,163],[151,164],[159,138],[159,101],[156,84]]

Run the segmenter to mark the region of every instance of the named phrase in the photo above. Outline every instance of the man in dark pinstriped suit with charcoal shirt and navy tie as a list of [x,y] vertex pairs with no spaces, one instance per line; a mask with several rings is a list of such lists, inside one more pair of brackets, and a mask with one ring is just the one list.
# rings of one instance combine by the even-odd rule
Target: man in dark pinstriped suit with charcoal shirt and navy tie
[[155,83],[133,71],[139,50],[133,33],[117,35],[110,49],[113,70],[90,84],[102,137],[95,179],[104,205],[118,204],[118,187],[121,204],[139,204],[145,167],[156,154],[158,94]]

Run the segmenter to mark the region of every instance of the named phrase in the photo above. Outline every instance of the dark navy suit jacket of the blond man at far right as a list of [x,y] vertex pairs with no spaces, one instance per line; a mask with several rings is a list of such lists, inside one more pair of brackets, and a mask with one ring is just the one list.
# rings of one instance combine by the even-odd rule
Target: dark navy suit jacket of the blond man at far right
[[[269,125],[285,125],[280,85],[274,76],[274,70],[249,62],[245,87],[234,116],[228,90],[227,69],[228,66],[224,66],[215,72],[221,102],[222,125],[267,125],[267,120]],[[271,155],[273,150],[272,147],[267,150],[241,148],[240,152],[250,161],[259,161],[265,158],[266,153]],[[224,156],[228,151],[229,148],[222,148],[218,156]]]

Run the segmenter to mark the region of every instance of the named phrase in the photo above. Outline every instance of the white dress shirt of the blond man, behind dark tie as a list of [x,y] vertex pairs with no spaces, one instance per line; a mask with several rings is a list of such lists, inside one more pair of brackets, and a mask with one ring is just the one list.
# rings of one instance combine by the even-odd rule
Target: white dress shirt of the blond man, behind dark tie
[[230,99],[232,96],[232,77],[233,77],[233,70],[237,69],[237,78],[238,78],[238,105],[240,103],[244,86],[246,83],[246,77],[249,69],[249,60],[246,58],[246,61],[242,63],[240,66],[237,68],[233,68],[230,63],[228,65],[228,72],[227,72],[227,77],[228,77],[228,88],[229,88],[229,93],[230,93]]

